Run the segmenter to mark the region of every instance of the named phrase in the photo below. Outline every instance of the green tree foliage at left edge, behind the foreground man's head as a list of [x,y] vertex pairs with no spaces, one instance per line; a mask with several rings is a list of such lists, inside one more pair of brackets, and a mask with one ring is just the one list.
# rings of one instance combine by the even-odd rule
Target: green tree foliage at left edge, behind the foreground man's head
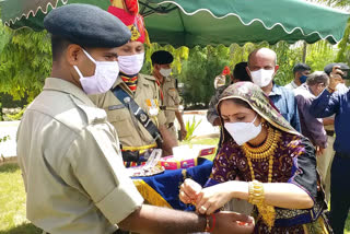
[[46,32],[36,33],[28,28],[4,31],[2,36],[8,40],[0,55],[0,91],[14,100],[27,96],[32,101],[50,73],[49,36]]

